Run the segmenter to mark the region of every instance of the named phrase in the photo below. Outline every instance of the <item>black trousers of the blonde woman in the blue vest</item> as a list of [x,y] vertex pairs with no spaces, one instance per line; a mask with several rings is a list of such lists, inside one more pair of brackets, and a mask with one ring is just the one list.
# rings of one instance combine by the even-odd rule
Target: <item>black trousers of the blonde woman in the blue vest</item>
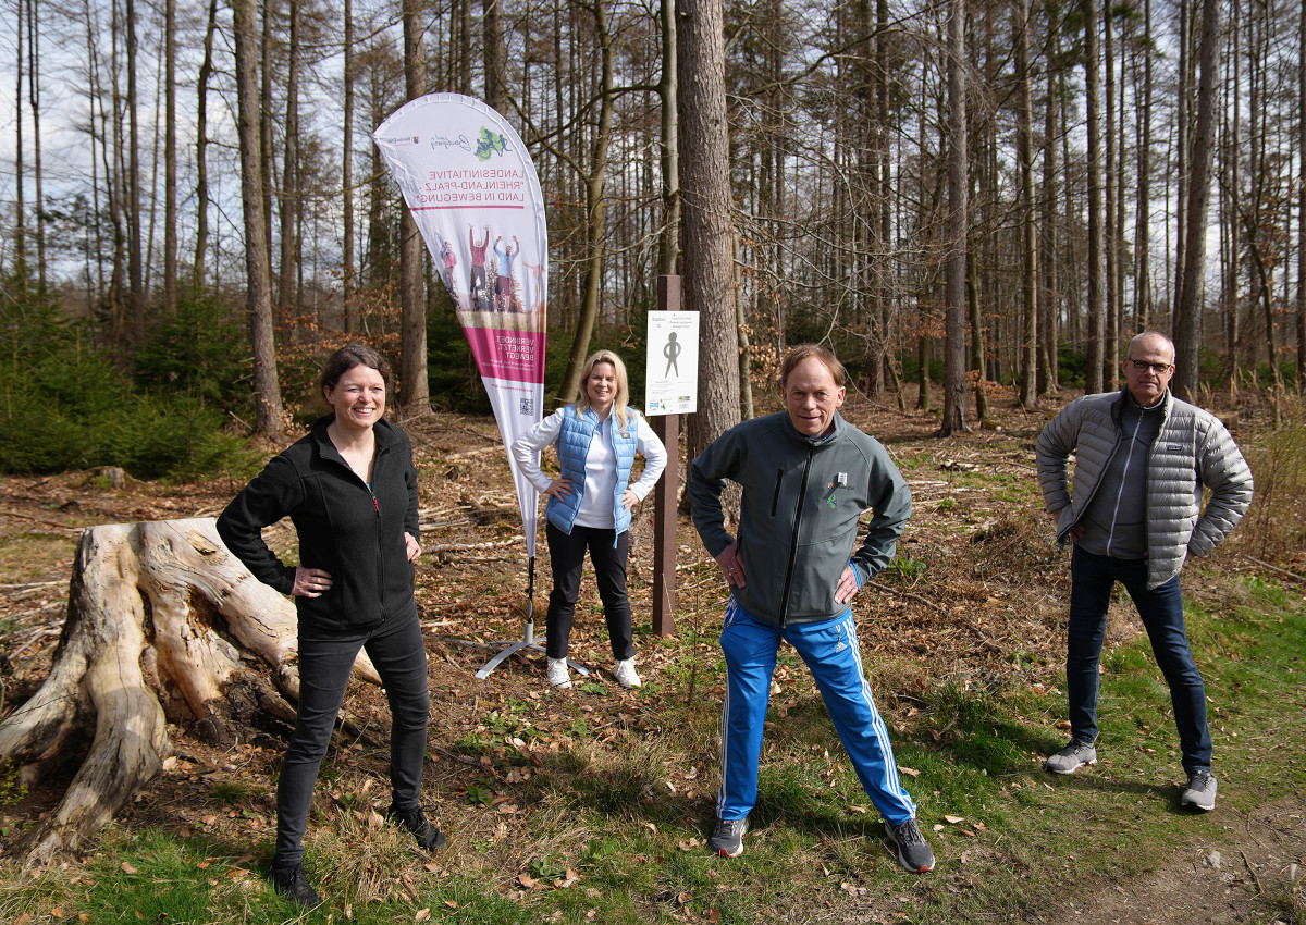
[[635,657],[631,631],[631,604],[626,600],[626,557],[629,551],[631,532],[624,530],[613,545],[611,529],[572,527],[571,536],[552,524],[545,527],[549,541],[549,560],[554,570],[554,589],[549,593],[547,641],[545,651],[550,658],[567,657],[576,596],[580,593],[580,570],[585,564],[585,550],[594,563],[598,596],[603,601],[607,618],[607,636],[613,644],[613,658]]

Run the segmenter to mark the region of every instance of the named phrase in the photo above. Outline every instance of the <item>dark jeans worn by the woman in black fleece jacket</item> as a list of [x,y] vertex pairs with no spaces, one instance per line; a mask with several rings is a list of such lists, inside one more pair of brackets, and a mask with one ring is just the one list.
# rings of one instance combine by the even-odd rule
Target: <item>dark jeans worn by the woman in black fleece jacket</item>
[[332,729],[345,699],[345,687],[360,648],[381,675],[390,703],[390,785],[394,805],[418,805],[426,724],[431,712],[427,692],[426,645],[417,608],[406,617],[375,627],[330,636],[299,636],[299,709],[295,732],[281,762],[277,784],[277,857],[293,866],[303,858],[304,830],[313,803],[317,768],[330,745]]

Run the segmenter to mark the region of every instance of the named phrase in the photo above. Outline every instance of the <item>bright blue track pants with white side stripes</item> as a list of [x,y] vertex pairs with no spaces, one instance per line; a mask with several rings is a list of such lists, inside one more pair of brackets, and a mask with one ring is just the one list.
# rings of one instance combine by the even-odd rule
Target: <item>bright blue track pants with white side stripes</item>
[[726,604],[721,630],[726,700],[721,709],[717,817],[742,819],[757,802],[761,728],[781,639],[807,662],[853,770],[875,807],[895,826],[916,818],[916,803],[899,780],[888,729],[875,709],[862,670],[852,609],[821,623],[780,627],[750,617],[734,597]]

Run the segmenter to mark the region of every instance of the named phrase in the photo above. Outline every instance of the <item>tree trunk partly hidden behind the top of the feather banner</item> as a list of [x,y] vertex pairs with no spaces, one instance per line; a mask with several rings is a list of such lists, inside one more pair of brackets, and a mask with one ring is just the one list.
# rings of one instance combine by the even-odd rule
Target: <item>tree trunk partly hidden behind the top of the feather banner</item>
[[[422,48],[421,0],[404,0],[404,86],[409,99],[426,94],[426,52]],[[426,293],[422,236],[413,213],[400,199],[400,397],[409,415],[431,410],[426,372]]]

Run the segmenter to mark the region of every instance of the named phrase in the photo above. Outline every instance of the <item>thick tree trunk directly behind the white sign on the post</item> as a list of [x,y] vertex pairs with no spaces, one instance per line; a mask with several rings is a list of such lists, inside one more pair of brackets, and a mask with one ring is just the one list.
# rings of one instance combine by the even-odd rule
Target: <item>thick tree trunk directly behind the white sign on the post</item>
[[680,200],[684,307],[700,312],[699,412],[690,415],[692,460],[739,423],[730,135],[721,0],[678,0]]

